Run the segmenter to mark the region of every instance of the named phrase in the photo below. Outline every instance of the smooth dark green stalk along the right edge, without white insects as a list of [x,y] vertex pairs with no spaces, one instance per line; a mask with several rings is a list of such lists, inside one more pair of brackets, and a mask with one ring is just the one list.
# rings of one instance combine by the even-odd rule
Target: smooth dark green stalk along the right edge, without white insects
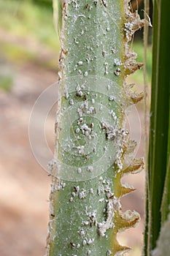
[[[150,149],[148,160],[149,222],[145,232],[145,255],[155,248],[169,212],[169,44],[168,1],[154,1],[152,46],[152,95],[150,108]],[[163,191],[166,195],[163,195]]]

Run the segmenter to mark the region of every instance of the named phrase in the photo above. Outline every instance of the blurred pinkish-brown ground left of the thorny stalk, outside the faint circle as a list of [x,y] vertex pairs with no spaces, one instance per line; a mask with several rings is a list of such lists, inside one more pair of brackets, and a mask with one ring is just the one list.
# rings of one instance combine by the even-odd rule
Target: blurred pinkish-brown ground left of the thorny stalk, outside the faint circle
[[[28,121],[56,73],[33,64],[10,69],[12,91],[0,91],[0,255],[38,256],[45,254],[50,178],[31,153]],[[53,125],[48,131],[53,141]]]

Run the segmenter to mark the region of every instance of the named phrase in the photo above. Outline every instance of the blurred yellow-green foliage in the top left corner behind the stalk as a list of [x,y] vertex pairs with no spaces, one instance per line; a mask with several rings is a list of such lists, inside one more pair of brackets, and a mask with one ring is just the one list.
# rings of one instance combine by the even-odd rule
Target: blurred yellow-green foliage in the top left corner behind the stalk
[[38,40],[53,50],[59,49],[52,1],[0,0],[0,15],[1,28],[15,36]]

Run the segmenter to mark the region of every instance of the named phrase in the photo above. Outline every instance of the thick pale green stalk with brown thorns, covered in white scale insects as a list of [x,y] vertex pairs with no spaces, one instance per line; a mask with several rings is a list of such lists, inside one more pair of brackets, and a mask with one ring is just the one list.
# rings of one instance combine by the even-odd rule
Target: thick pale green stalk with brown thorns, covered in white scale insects
[[[142,98],[142,95],[130,94],[125,77],[140,67],[128,48],[128,41],[134,31],[143,26],[143,21],[131,14],[128,1],[124,0],[62,1],[62,7],[58,72],[61,99],[55,125],[55,160],[50,164],[53,181],[47,256],[116,255],[129,249],[117,243],[117,232],[139,221],[136,212],[121,212],[120,197],[134,189],[122,186],[120,179],[143,165],[142,159],[127,163],[136,144],[128,140],[123,126],[125,107]],[[89,86],[93,85],[90,90],[82,88],[89,80]],[[115,94],[103,93],[105,83]],[[70,90],[72,86],[74,91]],[[113,96],[117,97],[118,105],[112,100]],[[86,114],[87,102],[92,106],[94,99],[95,113]],[[81,132],[82,124],[77,116],[80,108],[74,107],[80,103],[83,105],[82,124],[93,127],[91,135],[97,135],[96,147],[90,153],[82,150],[87,138]],[[106,113],[100,113],[98,105],[104,107]],[[109,124],[104,122],[108,113],[115,113]],[[118,121],[113,121],[114,116]],[[76,131],[80,132],[80,137]],[[74,146],[70,147],[72,141]],[[104,162],[99,161],[101,158]]]

